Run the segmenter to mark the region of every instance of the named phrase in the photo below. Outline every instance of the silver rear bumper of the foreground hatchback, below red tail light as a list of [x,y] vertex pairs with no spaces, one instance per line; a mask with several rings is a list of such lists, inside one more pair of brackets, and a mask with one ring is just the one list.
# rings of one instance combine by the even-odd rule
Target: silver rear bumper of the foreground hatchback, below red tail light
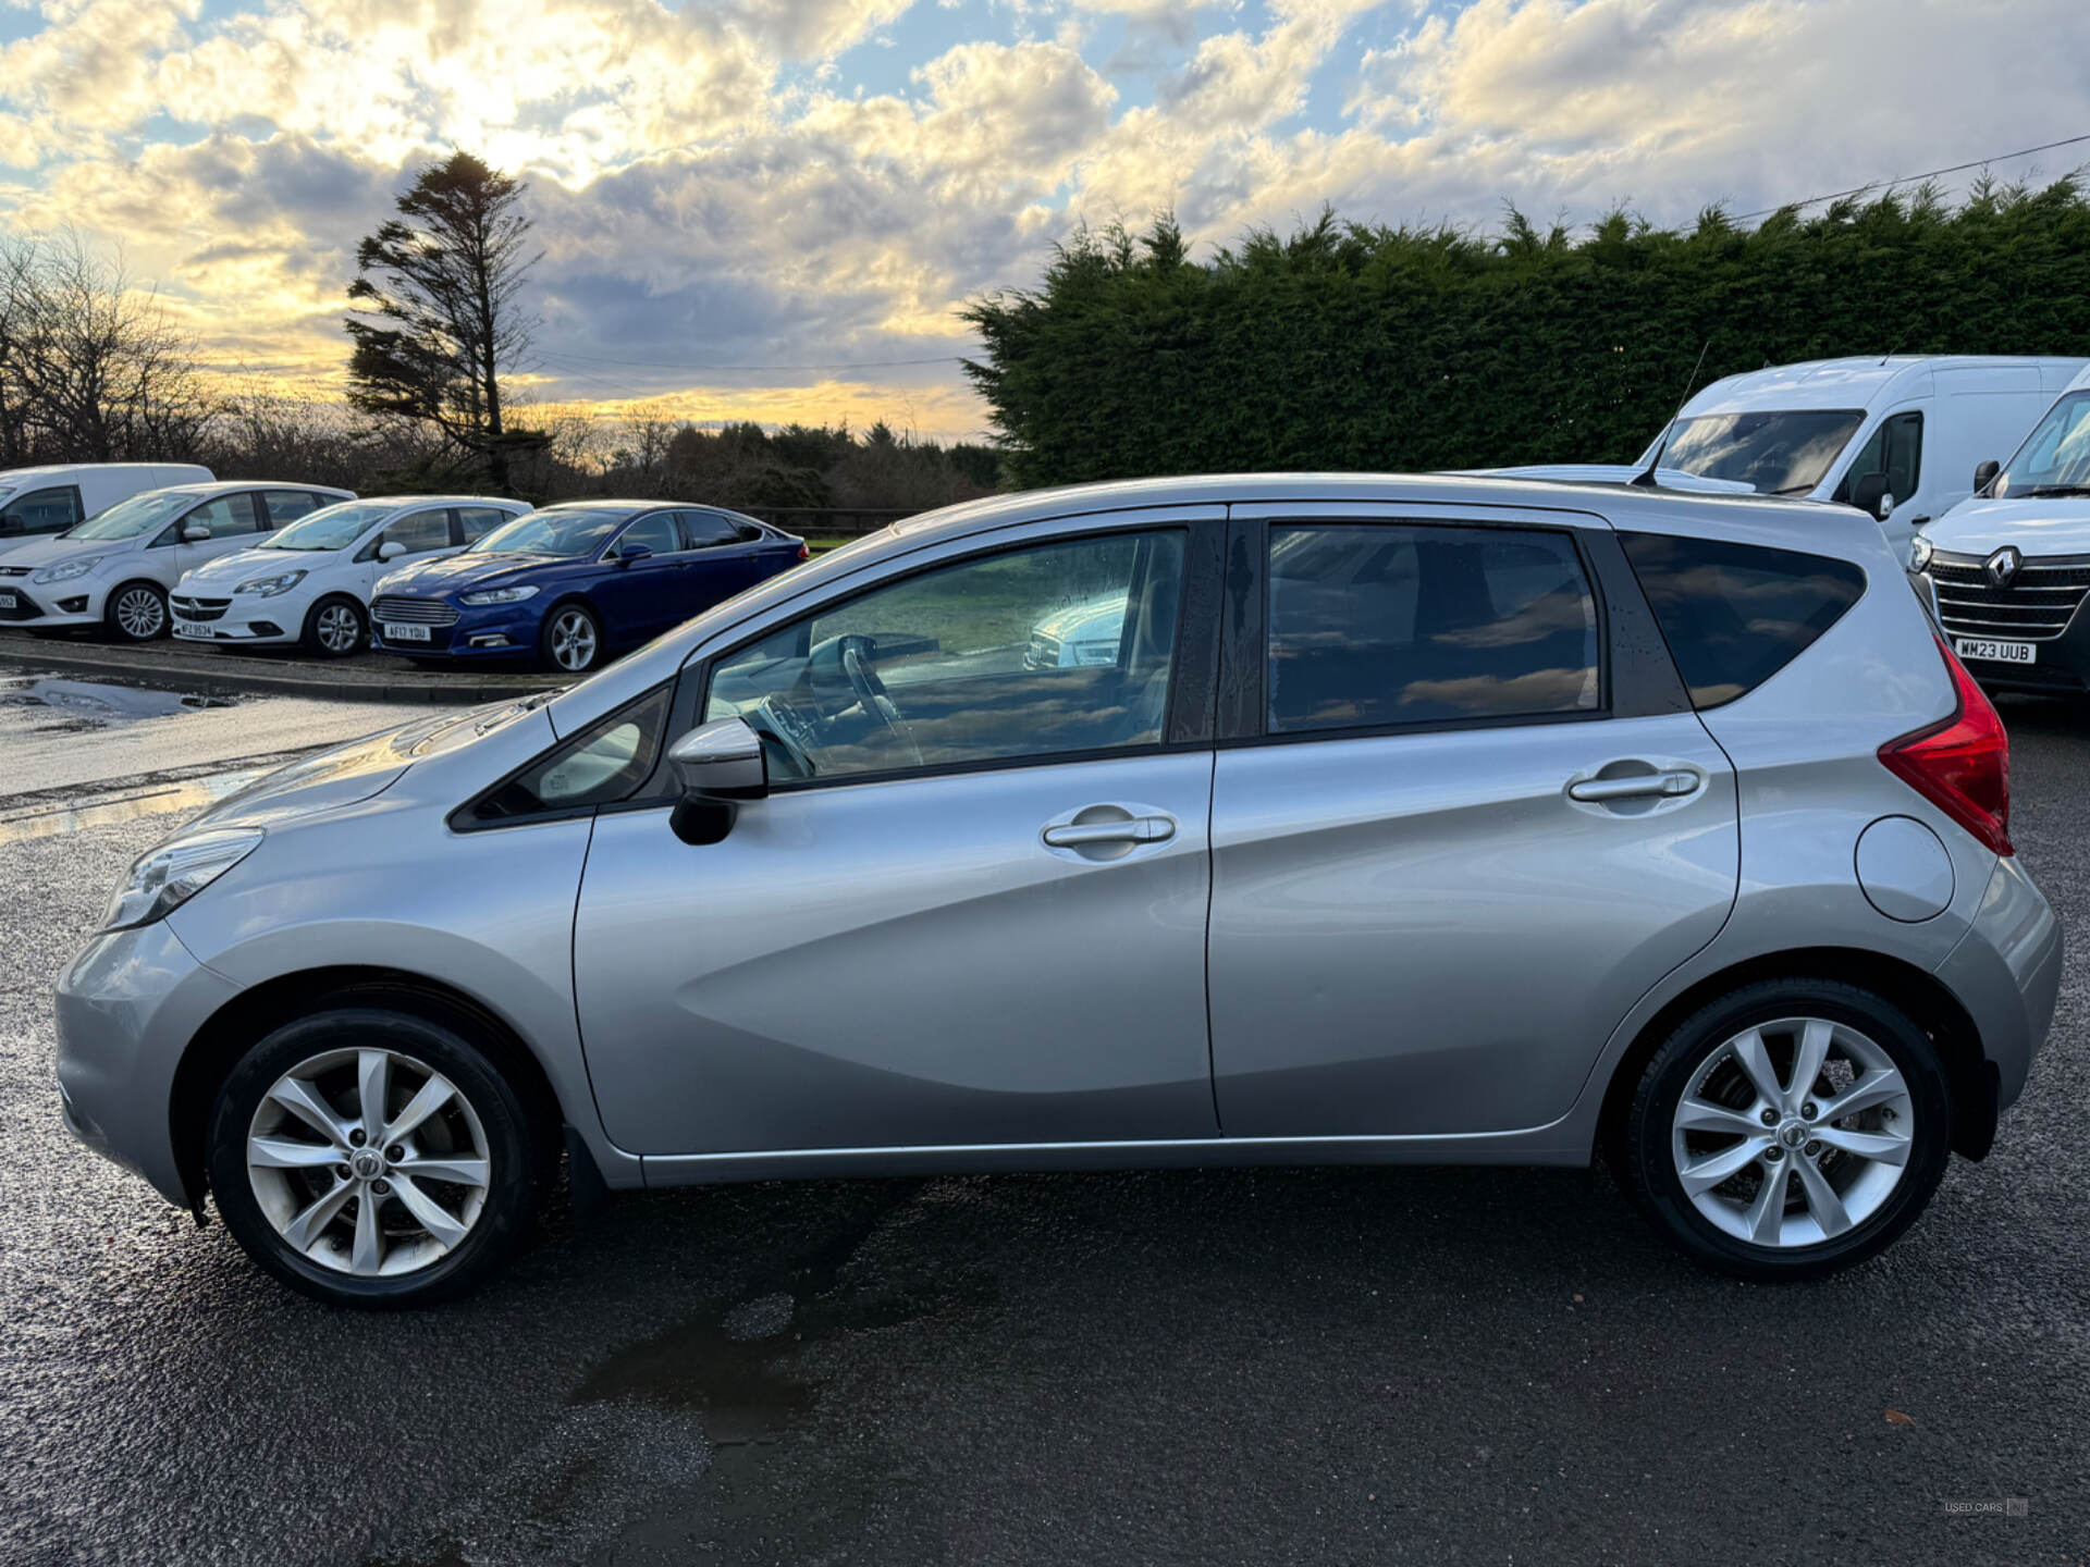
[[1937,967],[1981,1034],[1996,1114],[2025,1091],[2061,992],[2061,921],[2017,859],[1998,859],[1973,928]]

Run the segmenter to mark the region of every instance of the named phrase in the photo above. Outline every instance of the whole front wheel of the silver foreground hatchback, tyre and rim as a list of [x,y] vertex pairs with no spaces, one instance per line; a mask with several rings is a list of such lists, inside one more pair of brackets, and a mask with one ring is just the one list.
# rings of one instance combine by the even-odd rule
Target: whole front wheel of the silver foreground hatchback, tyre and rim
[[[422,1306],[529,1231],[548,1132],[466,1030],[385,995],[284,1024],[217,1091],[209,1178],[234,1239],[336,1306]],[[382,1097],[382,1135],[364,1114]]]

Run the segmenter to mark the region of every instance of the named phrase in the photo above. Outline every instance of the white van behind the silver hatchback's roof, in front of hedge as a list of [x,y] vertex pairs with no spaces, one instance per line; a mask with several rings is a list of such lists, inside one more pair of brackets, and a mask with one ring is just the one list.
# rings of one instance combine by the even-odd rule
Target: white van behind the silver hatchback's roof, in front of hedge
[[1908,560],[1914,531],[1973,491],[1975,464],[2013,451],[2086,366],[2090,359],[1940,355],[1751,370],[1697,393],[1630,466],[1494,472],[1620,481],[1659,451],[1657,481],[1676,472],[1873,512]]

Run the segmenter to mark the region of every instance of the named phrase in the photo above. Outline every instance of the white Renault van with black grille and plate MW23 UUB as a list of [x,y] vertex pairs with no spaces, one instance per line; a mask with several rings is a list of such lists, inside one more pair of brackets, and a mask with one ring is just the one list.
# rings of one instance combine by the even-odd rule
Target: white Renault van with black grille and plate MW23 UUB
[[1923,531],[1912,564],[1952,648],[1983,685],[2090,689],[2090,370],[1975,493]]

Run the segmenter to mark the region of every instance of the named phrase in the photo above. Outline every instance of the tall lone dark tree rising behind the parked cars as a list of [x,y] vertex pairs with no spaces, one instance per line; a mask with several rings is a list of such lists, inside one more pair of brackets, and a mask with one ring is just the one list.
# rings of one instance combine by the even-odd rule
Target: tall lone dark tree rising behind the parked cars
[[433,424],[481,453],[495,487],[508,458],[541,443],[504,420],[502,376],[527,353],[535,322],[518,297],[529,251],[525,184],[470,153],[422,169],[399,217],[355,249],[345,326],[349,401],[364,414]]

